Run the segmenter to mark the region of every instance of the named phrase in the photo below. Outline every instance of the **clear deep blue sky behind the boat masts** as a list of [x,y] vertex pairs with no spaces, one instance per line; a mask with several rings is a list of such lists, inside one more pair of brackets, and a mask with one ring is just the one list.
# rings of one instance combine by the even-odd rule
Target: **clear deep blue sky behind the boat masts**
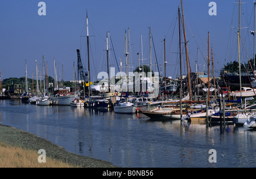
[[[38,15],[38,3],[31,0],[2,1],[0,6],[0,69],[2,79],[25,74],[27,60],[28,77],[35,76],[35,59],[38,66],[45,56],[48,75],[53,76],[53,57],[57,64],[57,78],[60,66],[64,67],[64,80],[73,79],[73,62],[77,64],[76,49],[81,50],[82,60],[86,58],[86,10],[89,16],[90,69],[92,80],[100,71],[106,71],[106,32],[110,32],[114,50],[110,50],[111,65],[124,64],[125,30],[130,29],[130,62],[138,66],[143,37],[144,63],[149,63],[149,29],[151,28],[155,50],[152,49],[152,63],[163,65],[163,39],[166,38],[167,76],[179,76],[177,9],[180,0],[45,0],[46,16]],[[237,60],[237,0],[215,0],[217,15],[208,14],[208,0],[183,0],[185,29],[187,33],[189,59],[192,71],[196,69],[197,48],[199,48],[199,70],[207,71],[204,58],[207,57],[207,34],[210,32],[210,46],[214,50],[214,69],[217,71],[227,62]],[[242,39],[249,58],[253,56],[253,0],[242,5]],[[233,20],[232,20],[233,19]],[[233,48],[233,49],[232,49]],[[154,53],[156,52],[156,55]],[[156,58],[155,58],[156,56]],[[204,57],[204,58],[203,58]],[[247,57],[242,58],[247,61]],[[183,58],[185,66],[185,58]],[[131,69],[132,70],[132,69]],[[130,71],[131,71],[130,70]],[[154,71],[158,71],[153,67]],[[185,69],[183,74],[185,74]],[[163,66],[159,66],[163,71]],[[216,73],[218,74],[218,72]]]

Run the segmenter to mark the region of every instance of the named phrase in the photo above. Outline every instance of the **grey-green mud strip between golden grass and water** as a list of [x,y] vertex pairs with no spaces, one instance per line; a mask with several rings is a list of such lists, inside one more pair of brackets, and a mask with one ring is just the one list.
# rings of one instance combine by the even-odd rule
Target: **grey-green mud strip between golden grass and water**
[[46,151],[46,157],[61,160],[70,164],[80,165],[85,168],[117,168],[117,166],[113,165],[109,161],[73,154],[72,152],[66,151],[64,147],[58,146],[57,144],[40,138],[37,135],[1,124],[0,142],[28,150],[38,151],[40,149],[44,149]]

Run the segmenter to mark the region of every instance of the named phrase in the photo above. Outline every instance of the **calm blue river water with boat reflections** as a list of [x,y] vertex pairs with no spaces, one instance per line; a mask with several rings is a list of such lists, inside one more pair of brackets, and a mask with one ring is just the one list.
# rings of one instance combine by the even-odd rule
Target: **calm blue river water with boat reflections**
[[[0,120],[119,167],[255,167],[256,131],[152,121],[140,114],[0,100]],[[217,163],[209,163],[210,149]],[[47,151],[46,151],[47,152]]]

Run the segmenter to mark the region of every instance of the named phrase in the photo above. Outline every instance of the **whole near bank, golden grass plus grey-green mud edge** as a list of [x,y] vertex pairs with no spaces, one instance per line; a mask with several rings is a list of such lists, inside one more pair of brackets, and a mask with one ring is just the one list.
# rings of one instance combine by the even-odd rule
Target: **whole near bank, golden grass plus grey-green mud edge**
[[[40,138],[37,135],[5,125],[0,125],[0,147],[0,167],[12,167],[12,165],[13,167],[43,167],[43,165],[45,165],[44,167],[117,167],[108,161],[73,154],[66,151],[63,147]],[[38,154],[38,150],[40,149],[46,151],[46,163],[44,164],[38,162],[38,157],[40,155]],[[28,155],[26,152],[28,152]],[[51,160],[53,160],[53,163],[55,164],[48,165]],[[6,165],[2,164],[3,161]],[[30,165],[24,163],[30,163]]]

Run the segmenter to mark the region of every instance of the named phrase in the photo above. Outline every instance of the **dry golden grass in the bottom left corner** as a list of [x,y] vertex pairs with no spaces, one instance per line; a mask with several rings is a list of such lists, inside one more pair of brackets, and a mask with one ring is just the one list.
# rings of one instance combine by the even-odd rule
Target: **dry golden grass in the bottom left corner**
[[0,168],[78,168],[79,165],[47,157],[46,163],[39,163],[37,151],[24,150],[21,147],[0,143]]

